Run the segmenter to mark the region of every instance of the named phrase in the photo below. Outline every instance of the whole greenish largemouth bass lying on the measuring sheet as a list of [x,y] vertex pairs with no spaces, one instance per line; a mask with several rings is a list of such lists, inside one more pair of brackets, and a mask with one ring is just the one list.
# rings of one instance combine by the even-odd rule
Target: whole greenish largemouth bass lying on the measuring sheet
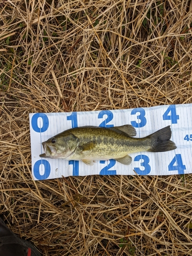
[[93,165],[95,160],[116,161],[129,165],[131,153],[149,151],[164,152],[175,150],[176,144],[170,140],[170,126],[143,138],[136,136],[135,128],[130,124],[117,127],[82,126],[66,130],[42,142],[44,154],[40,157],[82,160]]

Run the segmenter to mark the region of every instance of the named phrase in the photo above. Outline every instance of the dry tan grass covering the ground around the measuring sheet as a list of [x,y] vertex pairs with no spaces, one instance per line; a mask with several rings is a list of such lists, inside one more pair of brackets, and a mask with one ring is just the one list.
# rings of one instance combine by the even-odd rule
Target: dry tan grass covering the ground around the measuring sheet
[[29,113],[192,102],[192,2],[0,2],[0,214],[44,255],[192,255],[191,175],[34,182]]

